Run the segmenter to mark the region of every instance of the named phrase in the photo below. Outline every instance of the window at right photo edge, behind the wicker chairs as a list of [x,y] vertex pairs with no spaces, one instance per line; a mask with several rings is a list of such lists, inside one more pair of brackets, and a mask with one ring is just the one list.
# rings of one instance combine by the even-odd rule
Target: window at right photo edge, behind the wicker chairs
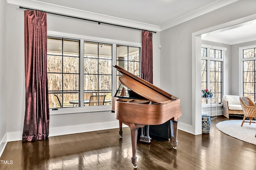
[[242,95],[256,101],[256,45],[239,48],[242,53]]

